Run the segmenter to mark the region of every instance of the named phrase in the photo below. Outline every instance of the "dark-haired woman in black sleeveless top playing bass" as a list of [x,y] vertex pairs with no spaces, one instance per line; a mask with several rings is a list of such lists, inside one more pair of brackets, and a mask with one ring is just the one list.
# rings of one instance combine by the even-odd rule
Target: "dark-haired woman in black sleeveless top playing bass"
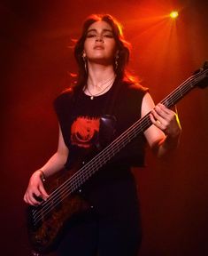
[[58,150],[32,174],[24,200],[32,205],[40,204],[37,197],[47,200],[50,195],[42,177],[47,179],[64,167],[70,169],[79,159],[95,156],[150,112],[152,125],[116,156],[109,156],[83,184],[81,194],[93,207],[69,222],[57,250],[58,255],[72,256],[137,255],[140,214],[130,167],[143,166],[146,141],[158,157],[176,148],[181,126],[172,110],[155,106],[147,88],[127,76],[129,47],[112,16],[90,16],[74,54],[79,67],[76,86],[55,100]]

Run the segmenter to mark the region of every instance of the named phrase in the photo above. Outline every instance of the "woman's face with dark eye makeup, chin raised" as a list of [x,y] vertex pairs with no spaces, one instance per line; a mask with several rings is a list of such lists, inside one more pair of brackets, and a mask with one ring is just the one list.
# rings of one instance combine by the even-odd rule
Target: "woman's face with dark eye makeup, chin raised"
[[116,50],[112,27],[107,22],[96,21],[89,26],[84,43],[84,52],[89,62],[112,64]]

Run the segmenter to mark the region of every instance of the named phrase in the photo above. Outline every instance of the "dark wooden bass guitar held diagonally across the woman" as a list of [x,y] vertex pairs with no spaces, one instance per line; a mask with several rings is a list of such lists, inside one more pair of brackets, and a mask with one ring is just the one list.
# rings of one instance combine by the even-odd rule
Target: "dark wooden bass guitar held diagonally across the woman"
[[[160,103],[167,108],[172,108],[179,100],[188,94],[193,88],[204,88],[208,83],[208,62],[204,67],[189,76],[181,85],[171,92]],[[144,132],[151,125],[150,113],[137,120],[116,140],[102,149],[86,164],[74,168],[63,175],[55,188],[51,189],[49,198],[38,206],[27,208],[28,237],[35,252],[50,252],[61,236],[65,224],[75,213],[85,211],[89,204],[79,195],[79,189],[94,173],[108,163],[113,156],[126,147],[136,136]],[[78,192],[78,193],[77,193]]]

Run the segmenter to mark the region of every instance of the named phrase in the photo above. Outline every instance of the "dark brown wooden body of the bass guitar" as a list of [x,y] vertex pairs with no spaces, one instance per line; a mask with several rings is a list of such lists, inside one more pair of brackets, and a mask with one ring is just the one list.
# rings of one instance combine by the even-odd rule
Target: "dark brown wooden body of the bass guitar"
[[[57,187],[59,188],[65,180],[70,179],[75,173],[73,170],[64,172],[58,178],[49,180],[50,184],[45,184],[46,188],[50,187],[47,189],[48,191],[50,190],[52,193],[53,190]],[[52,186],[51,183],[53,183]],[[58,201],[61,202],[59,204],[50,200],[49,204],[44,204],[43,202],[39,206],[29,206],[27,208],[28,237],[35,252],[45,253],[52,251],[64,231],[66,222],[71,220],[77,213],[85,212],[89,209],[89,203],[81,197],[79,192],[66,197],[65,191],[63,193],[58,191],[58,194],[55,201],[58,198]],[[45,214],[47,209],[50,209],[50,212]],[[35,217],[36,211],[38,211],[38,217]],[[38,218],[37,223],[35,223],[36,218]]]

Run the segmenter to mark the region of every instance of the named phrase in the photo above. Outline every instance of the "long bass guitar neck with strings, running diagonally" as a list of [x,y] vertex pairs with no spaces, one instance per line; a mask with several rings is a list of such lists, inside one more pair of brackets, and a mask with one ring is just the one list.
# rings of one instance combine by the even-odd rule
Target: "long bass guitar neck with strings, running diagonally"
[[[179,100],[181,100],[188,92],[190,92],[197,83],[207,76],[207,70],[190,76],[186,81],[179,85],[173,92],[171,92],[160,103],[164,104],[166,108],[172,108]],[[119,153],[122,148],[134,140],[136,136],[147,130],[150,125],[150,113],[137,120],[135,124],[130,126],[125,132],[121,133],[116,140],[113,140],[106,148],[93,157],[87,164],[81,167],[69,180],[66,180],[57,190],[65,191],[65,196],[69,196],[81,185],[89,180],[89,178],[97,172],[104,164],[107,164],[113,156]],[[58,193],[54,191],[53,193]]]

